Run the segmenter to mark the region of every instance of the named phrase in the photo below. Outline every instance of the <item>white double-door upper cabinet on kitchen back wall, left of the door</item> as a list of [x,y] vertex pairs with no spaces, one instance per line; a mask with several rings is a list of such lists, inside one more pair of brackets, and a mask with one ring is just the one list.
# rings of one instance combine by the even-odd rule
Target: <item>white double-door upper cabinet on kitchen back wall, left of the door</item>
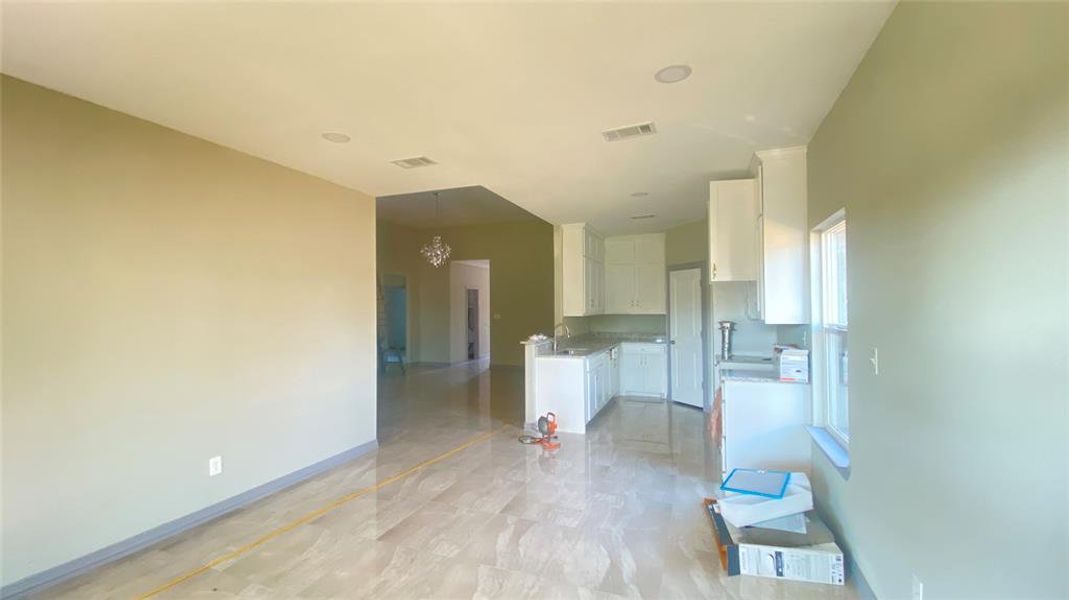
[[664,314],[664,233],[605,239],[605,312]]

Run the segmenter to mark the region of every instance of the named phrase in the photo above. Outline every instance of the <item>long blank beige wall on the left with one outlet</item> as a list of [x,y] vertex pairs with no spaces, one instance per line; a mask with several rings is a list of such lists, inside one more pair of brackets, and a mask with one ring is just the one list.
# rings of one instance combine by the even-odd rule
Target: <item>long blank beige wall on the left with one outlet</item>
[[2,94],[3,584],[374,440],[372,198]]

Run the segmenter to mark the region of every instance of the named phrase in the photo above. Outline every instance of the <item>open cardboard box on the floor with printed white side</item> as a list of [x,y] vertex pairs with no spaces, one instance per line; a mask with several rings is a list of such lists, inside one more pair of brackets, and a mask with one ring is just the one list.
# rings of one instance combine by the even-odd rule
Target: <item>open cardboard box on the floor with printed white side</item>
[[719,505],[706,498],[706,509],[713,521],[713,534],[721,565],[728,575],[757,575],[779,580],[843,585],[846,564],[827,526],[815,514],[806,513],[805,534],[738,528],[721,514]]

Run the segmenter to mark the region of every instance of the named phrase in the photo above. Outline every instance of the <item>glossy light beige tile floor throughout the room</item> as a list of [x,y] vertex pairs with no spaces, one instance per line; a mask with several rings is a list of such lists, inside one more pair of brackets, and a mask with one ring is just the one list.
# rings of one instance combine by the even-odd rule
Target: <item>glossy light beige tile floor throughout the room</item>
[[37,597],[137,597],[502,425],[513,427],[157,597],[856,597],[724,575],[701,507],[717,458],[697,409],[618,398],[551,453],[516,442],[522,380],[484,361],[390,369],[376,452]]

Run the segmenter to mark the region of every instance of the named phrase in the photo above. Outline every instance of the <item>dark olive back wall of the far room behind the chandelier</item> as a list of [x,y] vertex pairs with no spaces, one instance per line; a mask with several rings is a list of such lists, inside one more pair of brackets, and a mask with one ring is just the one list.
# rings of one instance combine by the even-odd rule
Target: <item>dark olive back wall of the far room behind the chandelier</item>
[[[379,270],[418,268],[418,339],[413,360],[449,363],[449,270],[419,257],[432,234],[452,248],[451,260],[490,260],[492,365],[523,366],[520,342],[553,329],[553,226],[545,221],[474,225],[415,230],[379,220]],[[389,237],[389,240],[387,240]],[[406,266],[416,257],[418,266]],[[409,297],[416,296],[409,292]],[[409,321],[412,323],[412,321]]]

